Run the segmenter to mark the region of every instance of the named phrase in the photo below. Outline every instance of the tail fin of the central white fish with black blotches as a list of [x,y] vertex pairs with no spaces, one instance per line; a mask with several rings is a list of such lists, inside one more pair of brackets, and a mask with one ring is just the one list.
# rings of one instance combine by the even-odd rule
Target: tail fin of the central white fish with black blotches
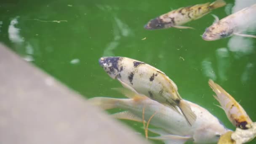
[[179,108],[181,109],[182,114],[184,115],[185,119],[187,120],[187,123],[190,126],[192,126],[195,123],[195,120],[197,119],[197,116],[192,111],[189,104],[184,100],[180,100]]

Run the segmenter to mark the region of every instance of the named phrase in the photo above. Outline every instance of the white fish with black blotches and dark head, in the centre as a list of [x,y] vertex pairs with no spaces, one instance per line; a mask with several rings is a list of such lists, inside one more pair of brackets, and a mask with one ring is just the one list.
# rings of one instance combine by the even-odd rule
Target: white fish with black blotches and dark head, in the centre
[[195,122],[196,115],[179,95],[176,84],[159,69],[125,57],[102,57],[99,64],[110,77],[119,80],[125,88],[177,111],[179,107],[189,125]]

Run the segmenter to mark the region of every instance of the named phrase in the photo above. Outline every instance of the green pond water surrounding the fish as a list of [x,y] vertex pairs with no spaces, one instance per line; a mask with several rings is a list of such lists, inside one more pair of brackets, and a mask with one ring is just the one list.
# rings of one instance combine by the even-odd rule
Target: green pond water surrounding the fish
[[[160,14],[206,2],[1,1],[0,41],[86,98],[124,98],[111,89],[121,85],[99,66],[100,57],[125,56],[144,61],[165,72],[178,86],[182,98],[205,107],[234,130],[224,111],[214,105],[218,102],[212,96],[208,80],[213,79],[240,101],[255,121],[256,39],[203,40],[200,35],[214,21],[210,14],[185,24],[195,29],[144,29],[144,24]],[[220,18],[227,16],[235,2],[226,2],[226,7],[212,13]],[[121,110],[109,112],[117,111]],[[144,136],[142,124],[123,122]]]

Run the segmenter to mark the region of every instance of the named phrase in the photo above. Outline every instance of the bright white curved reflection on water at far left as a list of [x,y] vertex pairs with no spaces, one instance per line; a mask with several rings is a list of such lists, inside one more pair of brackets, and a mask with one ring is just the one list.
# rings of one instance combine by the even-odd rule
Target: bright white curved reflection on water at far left
[[15,27],[15,25],[18,24],[18,18],[19,17],[16,17],[13,20],[11,20],[11,23],[8,28],[9,39],[16,44],[24,42],[24,40],[19,35],[20,29]]

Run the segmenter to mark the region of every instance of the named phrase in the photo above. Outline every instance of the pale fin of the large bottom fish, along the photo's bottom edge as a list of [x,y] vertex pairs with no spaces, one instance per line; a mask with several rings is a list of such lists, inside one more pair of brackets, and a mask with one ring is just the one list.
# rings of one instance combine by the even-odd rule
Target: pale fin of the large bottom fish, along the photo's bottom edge
[[192,139],[192,137],[168,134],[168,135],[149,137],[149,139],[165,141],[165,144],[185,144],[185,142]]

